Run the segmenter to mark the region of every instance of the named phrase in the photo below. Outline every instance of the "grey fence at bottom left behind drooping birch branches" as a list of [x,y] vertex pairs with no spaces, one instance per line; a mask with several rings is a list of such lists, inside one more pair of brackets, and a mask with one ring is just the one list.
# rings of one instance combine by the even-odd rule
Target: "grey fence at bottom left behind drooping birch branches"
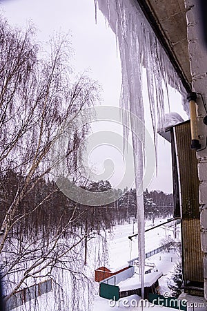
[[52,291],[52,279],[19,290],[6,302],[6,311],[18,308],[23,303]]

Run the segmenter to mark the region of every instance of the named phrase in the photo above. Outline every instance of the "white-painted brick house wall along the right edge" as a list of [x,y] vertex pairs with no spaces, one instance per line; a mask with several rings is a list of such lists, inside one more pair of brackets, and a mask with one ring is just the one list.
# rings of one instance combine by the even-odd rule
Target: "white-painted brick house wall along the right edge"
[[[207,102],[207,48],[202,44],[199,26],[197,0],[185,0],[188,53],[192,75],[192,89],[204,96]],[[198,133],[201,147],[205,147],[207,126],[203,122],[206,115],[201,98],[198,97]],[[204,252],[204,296],[207,301],[207,149],[197,152],[199,176],[199,204],[201,210],[201,249]]]

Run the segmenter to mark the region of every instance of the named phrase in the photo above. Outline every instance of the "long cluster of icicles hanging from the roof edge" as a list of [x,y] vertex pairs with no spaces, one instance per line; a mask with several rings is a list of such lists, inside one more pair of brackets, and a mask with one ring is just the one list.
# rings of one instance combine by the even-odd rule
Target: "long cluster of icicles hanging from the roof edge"
[[[152,126],[154,129],[155,146],[157,124],[164,128],[164,94],[168,97],[168,85],[175,88],[183,95],[184,111],[188,113],[186,91],[184,86],[170,63],[164,49],[141,8],[135,0],[95,0],[99,9],[108,20],[109,26],[115,32],[117,45],[120,50],[122,87],[120,105],[122,108],[134,113],[144,122],[144,102],[142,85],[144,75],[143,67],[146,68],[148,84],[148,98]],[[125,117],[125,116],[123,116]],[[128,120],[130,123],[130,120]],[[135,175],[136,188],[139,188],[144,173],[143,146],[133,134],[132,142],[135,152]],[[124,136],[128,136],[128,129],[124,129]],[[143,197],[137,195],[137,218],[139,240],[139,267],[141,274],[142,295],[144,294],[144,202]]]

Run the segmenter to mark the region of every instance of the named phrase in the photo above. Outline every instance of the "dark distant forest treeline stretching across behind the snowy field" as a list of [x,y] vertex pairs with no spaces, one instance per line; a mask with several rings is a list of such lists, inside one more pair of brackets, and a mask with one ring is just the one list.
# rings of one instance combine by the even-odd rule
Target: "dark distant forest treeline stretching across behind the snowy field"
[[[14,196],[17,195],[17,186],[23,184],[23,176],[12,170],[1,176],[0,210],[1,222],[5,211],[10,207]],[[112,189],[110,182],[100,180],[90,182],[85,187],[88,191],[100,192]],[[51,180],[40,179],[32,190],[19,202],[16,217],[22,217],[18,226],[14,226],[12,233],[22,231],[23,235],[52,232],[57,225],[64,227],[71,219],[71,227],[83,229],[83,232],[101,229],[110,229],[113,225],[130,222],[137,218],[135,189],[117,189],[119,199],[108,205],[86,206],[67,198],[56,183]],[[34,211],[34,207],[39,207]],[[173,214],[172,194],[163,191],[144,191],[145,217],[148,219],[171,217]],[[32,213],[30,214],[30,211]],[[46,234],[47,235],[47,234]]]

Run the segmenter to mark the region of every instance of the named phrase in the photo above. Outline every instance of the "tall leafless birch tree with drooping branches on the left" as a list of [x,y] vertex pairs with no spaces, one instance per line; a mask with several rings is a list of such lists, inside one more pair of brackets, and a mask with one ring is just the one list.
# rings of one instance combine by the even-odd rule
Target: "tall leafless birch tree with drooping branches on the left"
[[[57,129],[64,129],[72,115],[99,100],[97,82],[85,75],[75,79],[68,63],[71,48],[67,36],[52,39],[50,53],[40,58],[33,35],[32,26],[22,32],[10,28],[1,17],[0,177],[4,180],[11,171],[21,176],[14,187],[10,185],[9,194],[1,184],[0,256],[1,274],[7,282],[6,300],[30,279],[51,276],[55,267],[68,269],[68,258],[72,254],[78,260],[82,241],[92,234],[72,230],[76,205],[68,218],[61,215],[47,239],[41,227],[36,233],[22,227],[58,191],[57,187],[46,194],[42,191],[41,200],[31,200],[29,207],[19,208],[41,180],[51,178],[57,164],[51,160]],[[77,151],[87,132],[88,126],[74,129],[65,142],[62,155],[71,176],[77,176]],[[69,268],[72,271],[71,265]]]

